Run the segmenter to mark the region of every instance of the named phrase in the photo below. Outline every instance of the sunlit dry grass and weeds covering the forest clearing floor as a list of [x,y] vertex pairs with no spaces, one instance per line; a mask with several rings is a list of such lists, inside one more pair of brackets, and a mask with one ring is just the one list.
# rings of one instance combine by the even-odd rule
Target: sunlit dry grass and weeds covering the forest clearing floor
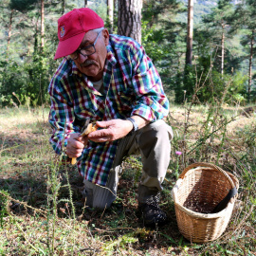
[[[0,255],[255,255],[256,121],[241,113],[171,107],[173,151],[161,201],[170,222],[153,230],[137,217],[139,157],[125,161],[113,207],[89,210],[76,167],[61,164],[48,144],[47,109],[0,109]],[[179,233],[171,196],[176,176],[198,161],[217,164],[240,182],[228,229],[204,245]]]

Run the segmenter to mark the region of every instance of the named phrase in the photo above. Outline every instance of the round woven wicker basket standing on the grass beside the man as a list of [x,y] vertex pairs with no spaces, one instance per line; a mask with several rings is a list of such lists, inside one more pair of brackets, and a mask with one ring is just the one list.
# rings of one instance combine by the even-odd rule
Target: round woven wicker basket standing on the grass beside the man
[[210,213],[236,187],[238,179],[210,163],[188,166],[174,186],[172,195],[178,229],[191,242],[206,243],[217,239],[227,228],[237,197],[217,213]]

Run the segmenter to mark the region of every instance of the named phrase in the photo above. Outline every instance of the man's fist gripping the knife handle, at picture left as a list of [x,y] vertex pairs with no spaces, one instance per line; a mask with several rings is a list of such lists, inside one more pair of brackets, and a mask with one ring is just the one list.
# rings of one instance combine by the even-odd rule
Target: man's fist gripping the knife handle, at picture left
[[71,134],[67,139],[66,155],[70,158],[78,158],[82,155],[82,150],[87,141],[88,137],[81,137],[80,134]]

